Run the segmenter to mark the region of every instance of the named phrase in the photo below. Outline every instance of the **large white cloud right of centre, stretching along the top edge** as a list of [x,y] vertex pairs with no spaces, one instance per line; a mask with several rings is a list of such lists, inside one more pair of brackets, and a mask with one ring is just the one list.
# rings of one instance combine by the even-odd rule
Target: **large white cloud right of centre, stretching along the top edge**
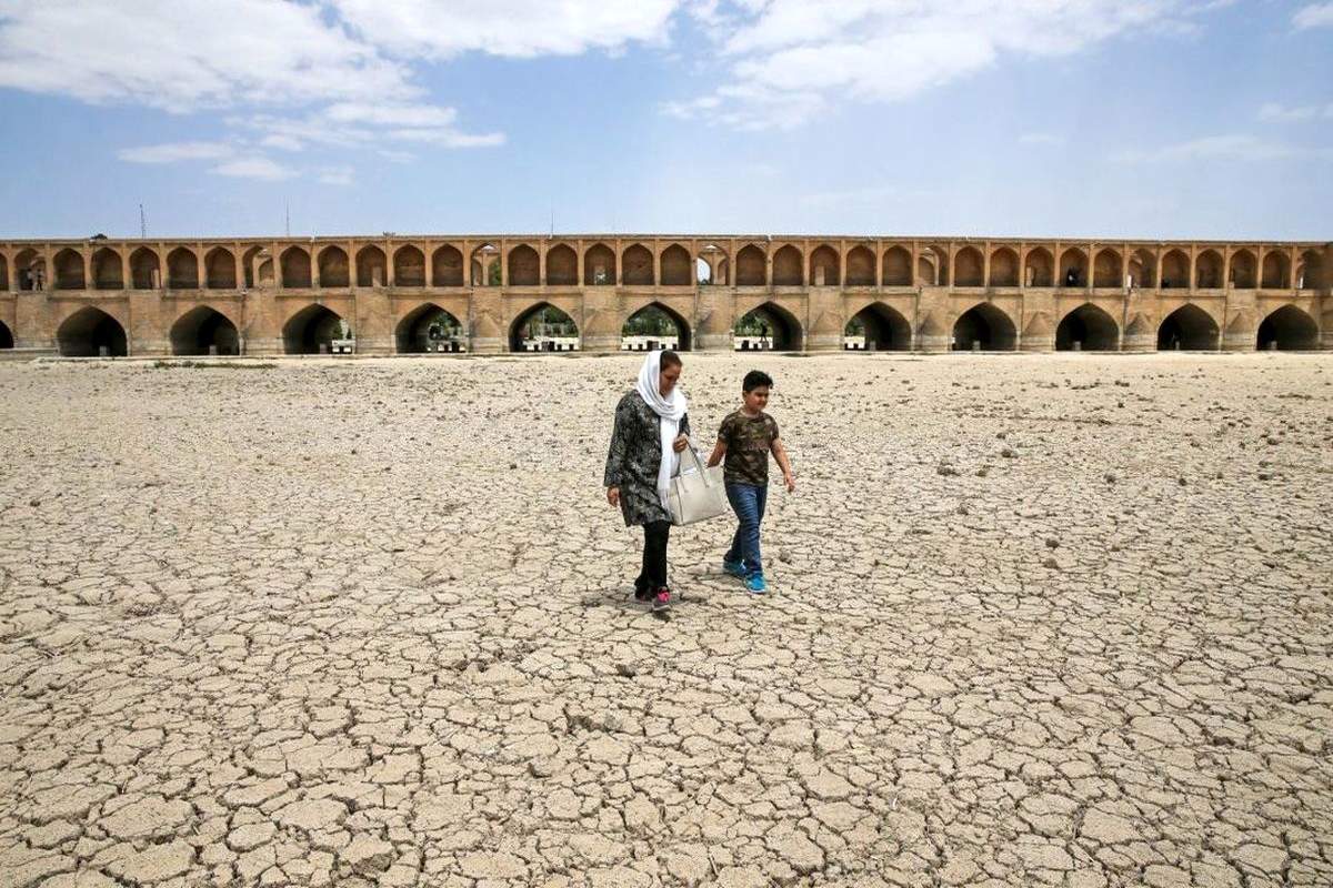
[[[718,37],[721,88],[665,113],[794,126],[837,100],[896,101],[1006,56],[1066,56],[1126,32],[1173,32],[1208,0],[694,0]],[[710,105],[705,100],[714,100]]]

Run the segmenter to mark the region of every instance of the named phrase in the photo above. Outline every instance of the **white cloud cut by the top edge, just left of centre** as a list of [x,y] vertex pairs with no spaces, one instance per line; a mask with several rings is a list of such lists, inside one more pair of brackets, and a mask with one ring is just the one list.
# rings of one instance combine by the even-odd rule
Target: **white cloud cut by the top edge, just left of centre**
[[663,44],[677,0],[329,0],[343,20],[393,56],[463,52],[535,57]]

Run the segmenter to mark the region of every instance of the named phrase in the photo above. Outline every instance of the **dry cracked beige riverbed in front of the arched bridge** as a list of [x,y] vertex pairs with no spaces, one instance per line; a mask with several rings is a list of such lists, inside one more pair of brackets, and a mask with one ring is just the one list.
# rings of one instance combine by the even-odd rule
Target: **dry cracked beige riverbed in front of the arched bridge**
[[1333,358],[756,362],[666,620],[636,358],[0,365],[0,885],[1333,884]]

